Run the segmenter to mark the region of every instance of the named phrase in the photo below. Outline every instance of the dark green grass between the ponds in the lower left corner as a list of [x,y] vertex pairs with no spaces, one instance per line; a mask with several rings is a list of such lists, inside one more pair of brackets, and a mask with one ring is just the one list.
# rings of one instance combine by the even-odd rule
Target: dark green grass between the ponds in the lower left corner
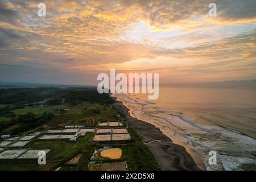
[[[37,160],[31,162],[0,162],[1,170],[14,170],[14,171],[32,171],[32,170],[49,170],[55,169],[54,167],[59,164],[61,170],[81,169],[86,170],[88,162],[93,154],[94,147],[90,146],[89,139],[92,134],[88,133],[83,138],[79,138],[76,142],[71,143],[67,140],[56,141],[36,141],[30,144],[30,148],[53,148],[51,154],[46,158],[47,164],[39,166]],[[65,164],[72,159],[75,155],[82,154],[79,164],[74,167],[68,167]]]

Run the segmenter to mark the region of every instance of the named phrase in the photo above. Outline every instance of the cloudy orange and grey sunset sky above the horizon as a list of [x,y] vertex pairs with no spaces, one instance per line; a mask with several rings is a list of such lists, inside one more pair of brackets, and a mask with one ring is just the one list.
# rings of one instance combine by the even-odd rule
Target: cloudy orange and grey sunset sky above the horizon
[[160,84],[251,80],[255,22],[255,0],[1,0],[0,81],[97,85],[110,68]]

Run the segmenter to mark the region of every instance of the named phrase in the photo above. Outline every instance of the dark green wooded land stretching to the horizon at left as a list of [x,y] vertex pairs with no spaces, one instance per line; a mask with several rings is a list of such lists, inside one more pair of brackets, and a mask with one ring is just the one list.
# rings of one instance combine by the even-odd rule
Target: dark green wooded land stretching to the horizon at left
[[[65,109],[69,106],[76,106],[84,102],[96,104],[93,108],[88,108],[87,111],[66,113]],[[113,104],[112,98],[109,94],[99,94],[96,89],[86,88],[9,88],[0,89],[0,132],[16,126],[19,115],[33,113],[41,120],[44,113],[55,113],[63,116],[54,117],[53,123],[61,123],[63,121],[75,121],[89,117],[113,118],[114,112],[112,109],[105,109]],[[100,106],[103,104],[104,106]],[[101,107],[103,107],[101,111]],[[84,108],[82,108],[84,109]],[[86,112],[88,115],[86,115]],[[90,114],[89,114],[90,113]],[[45,115],[43,116],[45,117]],[[60,121],[60,119],[63,119]],[[35,119],[36,120],[36,119]],[[36,121],[35,124],[16,127],[10,131],[10,134],[16,134],[19,131],[32,129],[32,127],[39,126]],[[46,121],[44,121],[46,122]],[[43,122],[42,122],[43,123]]]

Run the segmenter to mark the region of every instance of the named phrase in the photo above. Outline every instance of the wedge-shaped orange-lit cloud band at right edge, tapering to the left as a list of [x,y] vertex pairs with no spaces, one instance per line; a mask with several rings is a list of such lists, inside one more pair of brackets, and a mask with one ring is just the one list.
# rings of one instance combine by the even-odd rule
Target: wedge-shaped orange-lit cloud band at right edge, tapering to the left
[[225,38],[196,47],[162,49],[156,53],[179,58],[201,57],[204,59],[226,59],[229,57],[255,57],[256,30]]

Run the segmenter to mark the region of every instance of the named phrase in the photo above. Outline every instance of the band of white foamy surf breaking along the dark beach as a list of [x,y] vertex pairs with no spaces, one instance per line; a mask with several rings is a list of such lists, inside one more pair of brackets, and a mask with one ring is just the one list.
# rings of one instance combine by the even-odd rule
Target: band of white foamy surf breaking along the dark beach
[[[227,127],[202,125],[185,113],[155,106],[129,94],[113,94],[122,101],[131,116],[151,123],[175,143],[185,144],[195,150],[208,170],[239,170],[244,165],[256,166],[256,140]],[[208,162],[209,151],[217,152],[217,164]]]

